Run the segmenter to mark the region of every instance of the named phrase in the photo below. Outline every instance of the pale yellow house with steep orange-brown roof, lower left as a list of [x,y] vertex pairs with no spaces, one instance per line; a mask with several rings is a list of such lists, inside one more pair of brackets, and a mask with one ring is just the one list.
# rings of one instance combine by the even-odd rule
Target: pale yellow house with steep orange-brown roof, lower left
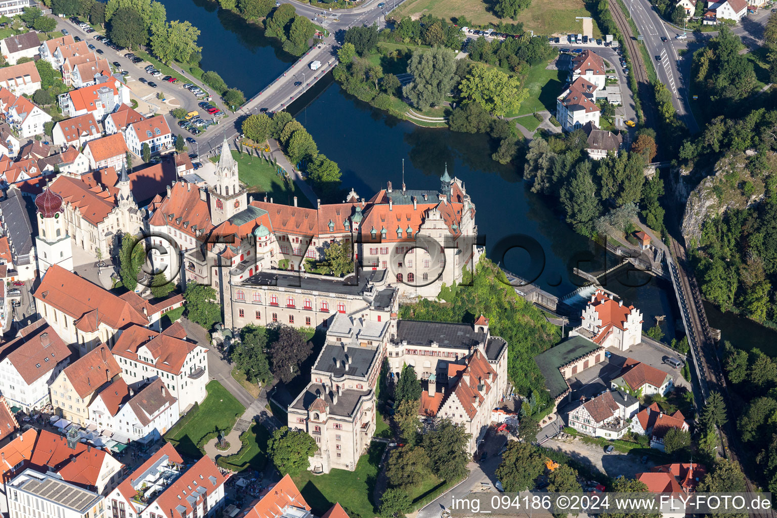
[[121,376],[121,369],[104,343],[65,367],[51,384],[54,412],[70,422],[87,426],[89,405],[101,388]]

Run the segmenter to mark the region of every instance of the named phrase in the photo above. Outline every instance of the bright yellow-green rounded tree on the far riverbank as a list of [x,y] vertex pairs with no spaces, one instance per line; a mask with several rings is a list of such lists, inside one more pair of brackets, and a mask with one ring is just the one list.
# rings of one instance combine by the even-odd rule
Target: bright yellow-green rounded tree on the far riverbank
[[496,116],[517,111],[529,95],[528,89],[521,89],[518,78],[484,64],[472,67],[459,89],[469,102],[479,103]]

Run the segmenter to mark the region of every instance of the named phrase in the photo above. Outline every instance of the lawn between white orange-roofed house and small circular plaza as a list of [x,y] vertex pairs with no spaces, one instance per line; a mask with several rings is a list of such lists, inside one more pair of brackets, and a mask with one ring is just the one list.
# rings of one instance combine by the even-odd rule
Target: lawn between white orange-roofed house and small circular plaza
[[232,429],[235,421],[246,411],[246,407],[218,381],[211,381],[206,388],[207,397],[200,407],[190,410],[165,434],[165,439],[187,457],[202,457],[197,449],[200,439],[215,429]]

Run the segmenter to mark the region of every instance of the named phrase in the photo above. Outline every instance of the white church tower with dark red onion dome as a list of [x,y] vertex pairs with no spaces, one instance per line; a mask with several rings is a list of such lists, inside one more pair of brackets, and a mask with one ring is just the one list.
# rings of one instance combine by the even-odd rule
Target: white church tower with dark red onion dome
[[38,274],[51,265],[73,271],[73,248],[62,214],[62,196],[47,188],[35,198],[38,235],[35,238]]

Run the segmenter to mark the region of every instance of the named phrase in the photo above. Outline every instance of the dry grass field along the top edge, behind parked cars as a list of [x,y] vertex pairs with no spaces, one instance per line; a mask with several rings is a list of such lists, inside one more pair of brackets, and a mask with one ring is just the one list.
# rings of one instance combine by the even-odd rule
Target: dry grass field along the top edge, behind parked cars
[[[477,25],[499,23],[492,12],[487,9],[485,2],[481,0],[406,0],[397,9],[392,11],[392,17],[401,19],[403,16],[419,18],[427,13],[444,19],[458,19],[465,16],[470,22]],[[513,21],[524,24],[525,30],[533,30],[535,33],[550,36],[551,34],[579,33],[582,29],[580,20],[576,16],[591,16],[585,7],[583,0],[535,0],[524,12],[519,13],[517,20],[506,19],[507,23]],[[594,21],[594,37],[601,37],[596,22]]]

